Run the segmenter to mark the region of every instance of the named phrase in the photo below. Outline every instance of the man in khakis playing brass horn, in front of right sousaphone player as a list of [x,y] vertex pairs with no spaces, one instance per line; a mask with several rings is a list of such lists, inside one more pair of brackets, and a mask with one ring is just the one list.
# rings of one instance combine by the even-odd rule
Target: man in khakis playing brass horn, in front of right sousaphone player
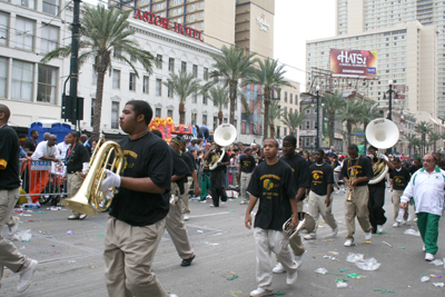
[[[343,162],[342,176],[346,187],[345,221],[347,236],[345,247],[354,244],[355,217],[365,231],[366,240],[372,237],[372,226],[368,210],[368,181],[374,177],[373,167],[368,158],[358,155],[357,145],[348,146],[347,158]],[[349,195],[350,194],[350,195]]]

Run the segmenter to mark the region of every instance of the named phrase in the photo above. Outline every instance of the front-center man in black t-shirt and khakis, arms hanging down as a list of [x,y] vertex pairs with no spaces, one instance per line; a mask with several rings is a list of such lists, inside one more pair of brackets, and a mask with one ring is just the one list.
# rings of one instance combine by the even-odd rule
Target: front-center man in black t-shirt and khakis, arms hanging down
[[291,286],[297,281],[298,264],[294,261],[289,245],[283,235],[283,225],[290,215],[294,215],[291,228],[298,225],[297,189],[291,168],[277,158],[278,150],[277,140],[271,138],[265,140],[266,161],[255,169],[247,189],[250,192],[245,219],[248,229],[251,228],[250,211],[259,199],[254,225],[258,288],[250,291],[250,296],[274,295],[270,273],[271,251],[287,271],[286,284]]

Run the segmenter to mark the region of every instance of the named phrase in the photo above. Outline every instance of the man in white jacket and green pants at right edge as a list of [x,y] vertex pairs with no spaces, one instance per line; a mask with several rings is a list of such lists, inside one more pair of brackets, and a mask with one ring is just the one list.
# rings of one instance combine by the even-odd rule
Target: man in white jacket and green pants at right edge
[[418,230],[424,240],[425,260],[432,261],[438,249],[438,221],[444,211],[445,171],[438,168],[437,159],[432,154],[425,155],[422,162],[424,168],[412,176],[400,198],[400,207],[406,208],[413,197]]

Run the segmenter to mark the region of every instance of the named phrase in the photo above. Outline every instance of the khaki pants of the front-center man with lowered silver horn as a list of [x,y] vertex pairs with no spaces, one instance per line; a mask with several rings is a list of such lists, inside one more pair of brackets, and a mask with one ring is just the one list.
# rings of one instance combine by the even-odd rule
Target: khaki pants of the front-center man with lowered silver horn
[[254,229],[255,250],[257,254],[257,281],[258,287],[271,287],[271,267],[270,254],[275,253],[277,259],[281,263],[286,271],[293,274],[297,270],[298,266],[294,261],[294,257],[285,240],[283,231],[265,230],[261,228]]

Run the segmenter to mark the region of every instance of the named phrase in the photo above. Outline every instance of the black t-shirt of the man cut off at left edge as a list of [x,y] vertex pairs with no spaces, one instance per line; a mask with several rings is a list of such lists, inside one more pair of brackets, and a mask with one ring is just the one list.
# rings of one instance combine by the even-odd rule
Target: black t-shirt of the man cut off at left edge
[[19,178],[19,137],[11,127],[0,128],[0,190],[20,187]]

